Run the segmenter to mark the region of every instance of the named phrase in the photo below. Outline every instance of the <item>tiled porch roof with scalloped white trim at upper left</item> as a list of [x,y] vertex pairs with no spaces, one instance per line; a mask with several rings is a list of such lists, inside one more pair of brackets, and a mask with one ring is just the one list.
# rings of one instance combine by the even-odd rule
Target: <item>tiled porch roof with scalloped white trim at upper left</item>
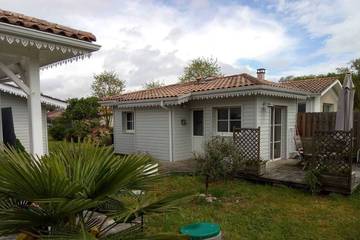
[[0,9],[0,61],[15,74],[24,57],[37,58],[40,68],[89,57],[100,49],[95,41],[90,32]]

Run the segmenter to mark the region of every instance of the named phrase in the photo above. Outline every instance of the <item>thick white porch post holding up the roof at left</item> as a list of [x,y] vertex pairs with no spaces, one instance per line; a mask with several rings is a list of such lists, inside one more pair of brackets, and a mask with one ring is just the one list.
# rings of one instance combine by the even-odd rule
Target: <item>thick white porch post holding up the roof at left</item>
[[40,102],[40,65],[38,56],[25,63],[25,81],[30,88],[28,96],[30,153],[44,155]]

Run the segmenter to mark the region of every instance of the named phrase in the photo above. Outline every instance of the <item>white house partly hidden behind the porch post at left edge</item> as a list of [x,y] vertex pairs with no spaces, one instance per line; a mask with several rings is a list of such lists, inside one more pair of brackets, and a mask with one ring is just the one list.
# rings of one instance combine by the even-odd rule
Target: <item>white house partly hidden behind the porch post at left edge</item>
[[[29,139],[29,113],[27,108],[27,96],[18,87],[9,84],[0,84],[0,107],[1,118],[0,124],[0,141],[7,142],[6,138],[11,138],[11,132],[14,130],[15,136],[27,151],[30,151]],[[44,132],[43,148],[48,152],[48,135],[47,135],[47,109],[56,107],[65,109],[65,101],[41,94],[41,126]],[[9,127],[10,126],[10,127]],[[11,127],[13,126],[13,127]],[[13,129],[12,129],[13,128]]]

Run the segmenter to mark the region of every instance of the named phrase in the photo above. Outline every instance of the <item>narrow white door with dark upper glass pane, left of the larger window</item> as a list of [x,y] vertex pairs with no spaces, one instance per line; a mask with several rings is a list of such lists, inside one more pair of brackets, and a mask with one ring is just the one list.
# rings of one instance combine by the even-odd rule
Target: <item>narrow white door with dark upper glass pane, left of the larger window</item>
[[192,112],[192,150],[201,153],[204,148],[204,111]]

